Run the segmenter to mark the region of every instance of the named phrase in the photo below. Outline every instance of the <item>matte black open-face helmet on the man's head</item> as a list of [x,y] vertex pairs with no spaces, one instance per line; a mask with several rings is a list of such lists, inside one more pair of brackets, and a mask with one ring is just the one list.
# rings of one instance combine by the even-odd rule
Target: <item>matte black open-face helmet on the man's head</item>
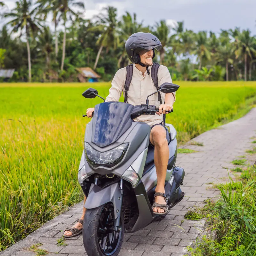
[[[129,36],[125,43],[125,51],[128,54],[129,59],[132,61],[132,63],[139,63],[140,65],[142,63],[140,63],[140,55],[138,54],[138,52],[140,52],[141,50],[154,51],[154,49],[159,51],[161,48],[162,44],[156,36],[144,32],[132,34],[131,36]],[[152,59],[154,57],[155,51]]]

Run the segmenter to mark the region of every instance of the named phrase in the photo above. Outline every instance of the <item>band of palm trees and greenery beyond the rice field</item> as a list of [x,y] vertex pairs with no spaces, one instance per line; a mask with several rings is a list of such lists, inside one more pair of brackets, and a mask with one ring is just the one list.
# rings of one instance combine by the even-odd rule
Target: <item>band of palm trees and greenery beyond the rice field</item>
[[[160,39],[163,47],[155,51],[154,61],[171,68],[174,81],[246,81],[248,75],[256,80],[256,39],[249,30],[221,30],[217,36],[212,31],[185,29],[183,22],[174,28],[166,20],[145,26],[136,13],[126,12],[118,19],[113,6],[103,8],[92,20],[84,20],[82,11],[84,4],[77,0],[37,0],[35,4],[20,0],[5,12],[7,27],[0,32],[0,48],[6,50],[3,64],[17,72],[9,81],[76,82],[70,67],[87,66],[103,67],[102,80],[109,81],[117,68],[130,64],[124,46],[136,32],[151,32]],[[8,17],[14,19],[8,22]],[[19,35],[11,38],[10,31]],[[20,33],[24,36],[19,37]]]

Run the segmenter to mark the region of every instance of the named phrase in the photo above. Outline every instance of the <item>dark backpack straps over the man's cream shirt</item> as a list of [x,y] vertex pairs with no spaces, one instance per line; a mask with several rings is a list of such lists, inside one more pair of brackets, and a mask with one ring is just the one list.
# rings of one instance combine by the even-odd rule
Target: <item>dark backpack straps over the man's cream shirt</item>
[[[152,65],[152,68],[151,68],[151,78],[156,87],[156,90],[159,90],[158,76],[157,76],[159,66],[160,65],[158,63],[154,62]],[[132,72],[133,72],[133,64],[126,67],[126,79],[125,79],[125,83],[124,83],[124,102],[125,103],[127,103],[127,92],[129,91],[130,84],[132,81]],[[149,75],[150,73],[149,73],[148,68],[147,68],[147,72]],[[163,104],[160,92],[158,92],[158,100],[160,101],[160,104]],[[164,125],[165,125],[165,114],[163,117],[164,117],[163,121],[164,121]]]

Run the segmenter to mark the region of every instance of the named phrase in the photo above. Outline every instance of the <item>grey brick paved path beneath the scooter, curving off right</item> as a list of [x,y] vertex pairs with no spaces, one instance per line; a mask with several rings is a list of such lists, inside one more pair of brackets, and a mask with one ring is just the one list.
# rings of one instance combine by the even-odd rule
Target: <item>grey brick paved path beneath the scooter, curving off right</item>
[[[191,141],[184,148],[199,152],[179,154],[176,165],[185,169],[184,199],[176,205],[164,220],[150,224],[148,227],[134,233],[124,235],[124,244],[120,256],[181,256],[185,254],[186,246],[190,245],[204,227],[204,220],[184,220],[184,214],[194,205],[202,206],[204,199],[212,198],[218,191],[207,190],[210,182],[223,182],[227,170],[233,168],[230,163],[237,156],[245,155],[245,150],[252,148],[252,137],[256,136],[256,108],[246,116],[222,125],[196,137],[193,141],[204,146],[192,146]],[[256,159],[250,159],[253,162]],[[222,179],[221,179],[222,178]],[[4,252],[3,256],[34,256],[36,253],[24,251],[24,248],[35,243],[43,243],[39,248],[50,252],[58,252],[59,256],[79,256],[85,254],[82,236],[67,239],[67,246],[57,246],[57,239],[68,225],[72,225],[81,215],[82,203],[75,205],[70,211],[48,221],[41,228],[30,234],[24,240],[14,244]],[[180,228],[180,227],[181,228]]]

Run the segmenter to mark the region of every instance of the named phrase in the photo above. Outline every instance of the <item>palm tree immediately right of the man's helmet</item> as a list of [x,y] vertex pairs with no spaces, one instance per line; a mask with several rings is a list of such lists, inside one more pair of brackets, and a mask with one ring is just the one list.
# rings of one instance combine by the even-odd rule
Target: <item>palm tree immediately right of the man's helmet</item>
[[164,61],[164,47],[170,42],[170,32],[170,28],[167,26],[165,20],[160,20],[160,23],[156,22],[155,31],[153,33],[156,37],[158,37],[163,46],[160,50],[160,64],[163,64]]

